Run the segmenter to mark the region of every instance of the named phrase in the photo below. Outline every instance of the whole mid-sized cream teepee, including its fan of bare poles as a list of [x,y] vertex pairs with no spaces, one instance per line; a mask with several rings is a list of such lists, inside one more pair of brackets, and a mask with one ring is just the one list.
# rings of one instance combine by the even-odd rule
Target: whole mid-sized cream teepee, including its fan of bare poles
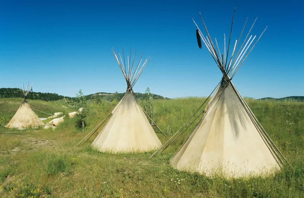
[[137,66],[135,66],[136,51],[133,60],[131,60],[130,52],[126,65],[125,55],[123,54],[122,59],[119,54],[119,59],[115,49],[112,49],[112,51],[126,79],[127,91],[122,100],[112,110],[111,118],[93,141],[92,146],[99,151],[111,153],[144,152],[157,149],[162,146],[162,143],[147,120],[145,112],[140,107],[133,92],[133,87],[150,58],[148,57],[140,67],[142,54]]

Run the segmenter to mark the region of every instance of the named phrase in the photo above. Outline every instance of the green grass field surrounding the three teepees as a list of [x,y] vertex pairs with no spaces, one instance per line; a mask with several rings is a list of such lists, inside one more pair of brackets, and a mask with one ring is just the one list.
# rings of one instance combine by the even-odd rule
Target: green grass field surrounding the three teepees
[[[75,147],[117,102],[91,104],[85,133],[77,128],[77,118],[65,118],[54,131],[4,128],[21,101],[0,99],[0,197],[304,197],[303,102],[246,100],[293,168],[269,177],[228,180],[170,167],[169,159],[198,121],[167,150],[149,159],[153,152],[100,153],[90,147],[97,134]],[[156,100],[154,120],[171,136],[203,101],[204,98]],[[51,114],[68,112],[62,102],[30,104]],[[157,135],[166,142],[163,135]]]

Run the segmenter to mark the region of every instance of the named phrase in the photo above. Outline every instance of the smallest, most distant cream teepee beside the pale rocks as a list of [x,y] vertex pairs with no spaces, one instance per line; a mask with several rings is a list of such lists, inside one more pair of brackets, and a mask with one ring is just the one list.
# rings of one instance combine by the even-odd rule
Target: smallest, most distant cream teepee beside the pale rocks
[[25,89],[23,85],[22,93],[24,100],[10,122],[5,126],[6,128],[26,129],[44,125],[27,102],[30,90],[31,86],[28,85],[27,89]]

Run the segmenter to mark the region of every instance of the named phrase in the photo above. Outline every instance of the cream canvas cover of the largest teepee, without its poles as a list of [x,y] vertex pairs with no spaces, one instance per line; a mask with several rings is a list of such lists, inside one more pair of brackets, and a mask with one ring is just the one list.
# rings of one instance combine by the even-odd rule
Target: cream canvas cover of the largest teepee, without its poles
[[221,83],[171,165],[178,170],[227,177],[264,175],[280,168],[231,82]]

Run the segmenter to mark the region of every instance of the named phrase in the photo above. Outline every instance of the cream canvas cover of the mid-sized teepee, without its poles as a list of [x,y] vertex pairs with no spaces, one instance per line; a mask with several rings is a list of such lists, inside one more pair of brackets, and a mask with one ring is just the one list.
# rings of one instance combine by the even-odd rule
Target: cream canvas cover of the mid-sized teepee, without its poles
[[102,152],[145,152],[162,146],[134,93],[127,92],[92,146]]

